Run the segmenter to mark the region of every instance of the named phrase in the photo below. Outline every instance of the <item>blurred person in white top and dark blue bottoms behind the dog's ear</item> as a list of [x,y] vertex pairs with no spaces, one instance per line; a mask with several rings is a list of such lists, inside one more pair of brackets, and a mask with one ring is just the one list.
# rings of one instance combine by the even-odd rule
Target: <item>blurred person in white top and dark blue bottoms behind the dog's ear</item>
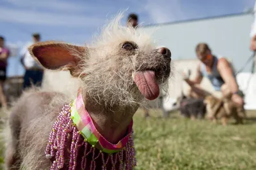
[[[40,34],[35,33],[32,36],[33,36],[33,43],[37,43],[40,41]],[[29,43],[29,45],[32,45],[33,43]],[[33,57],[30,55],[28,51],[28,46],[26,46],[22,50],[21,52],[22,57],[20,59],[20,62],[25,69],[23,89],[29,88],[32,85],[41,87],[43,76],[44,76],[43,67],[40,66],[36,62],[36,60],[33,59]]]

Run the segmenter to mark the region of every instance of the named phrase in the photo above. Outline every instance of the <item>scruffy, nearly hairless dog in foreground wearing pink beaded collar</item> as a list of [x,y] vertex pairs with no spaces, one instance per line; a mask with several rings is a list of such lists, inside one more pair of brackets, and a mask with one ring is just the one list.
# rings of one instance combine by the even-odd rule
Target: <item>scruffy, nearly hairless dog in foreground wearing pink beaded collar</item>
[[[13,106],[6,169],[133,169],[132,117],[171,76],[171,52],[117,15],[91,45],[29,46],[45,69],[80,80],[77,94],[28,90]],[[65,83],[65,82],[63,82]],[[70,101],[71,100],[71,101]]]

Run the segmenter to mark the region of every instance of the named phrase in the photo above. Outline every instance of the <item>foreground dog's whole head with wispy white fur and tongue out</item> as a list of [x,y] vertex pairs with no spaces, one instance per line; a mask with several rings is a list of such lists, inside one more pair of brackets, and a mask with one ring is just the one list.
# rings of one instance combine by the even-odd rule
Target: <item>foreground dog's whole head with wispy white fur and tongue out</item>
[[122,14],[102,29],[92,45],[36,43],[29,52],[47,69],[69,70],[81,78],[88,97],[110,105],[140,104],[159,96],[171,73],[171,52],[150,36],[120,25]]

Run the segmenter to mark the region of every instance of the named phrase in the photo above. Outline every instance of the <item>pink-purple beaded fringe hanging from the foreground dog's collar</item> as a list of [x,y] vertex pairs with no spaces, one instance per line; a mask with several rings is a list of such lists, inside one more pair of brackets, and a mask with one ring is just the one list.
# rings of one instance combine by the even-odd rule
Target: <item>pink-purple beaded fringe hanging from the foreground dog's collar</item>
[[[125,148],[120,152],[108,154],[97,150],[94,146],[86,143],[83,140],[83,136],[79,134],[76,125],[73,124],[70,117],[70,105],[65,104],[63,106],[60,114],[54,122],[52,131],[49,135],[49,141],[45,149],[45,156],[47,159],[53,160],[51,170],[57,170],[63,168],[65,160],[69,159],[68,170],[75,169],[88,169],[87,157],[90,154],[90,169],[96,169],[96,161],[100,160],[102,164],[102,169],[107,169],[109,164],[111,164],[111,169],[133,169],[136,166],[135,150],[133,137],[131,136]],[[67,147],[68,136],[72,137],[72,142],[70,148]],[[84,146],[84,147],[81,147]],[[81,161],[81,167],[77,167],[77,154],[81,152],[79,148],[83,148],[83,157]],[[65,150],[70,150],[68,156]],[[66,165],[65,165],[66,166]],[[116,167],[118,166],[118,167]]]

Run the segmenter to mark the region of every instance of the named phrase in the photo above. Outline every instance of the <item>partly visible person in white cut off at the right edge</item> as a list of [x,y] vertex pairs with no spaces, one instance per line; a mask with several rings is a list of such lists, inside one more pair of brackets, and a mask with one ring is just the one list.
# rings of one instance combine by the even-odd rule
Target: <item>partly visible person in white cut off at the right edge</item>
[[250,50],[252,50],[254,52],[254,70],[253,72],[256,72],[256,1],[254,3],[254,8],[253,8],[253,15],[254,15],[254,20],[253,20],[253,24],[252,24],[252,29],[250,32]]

